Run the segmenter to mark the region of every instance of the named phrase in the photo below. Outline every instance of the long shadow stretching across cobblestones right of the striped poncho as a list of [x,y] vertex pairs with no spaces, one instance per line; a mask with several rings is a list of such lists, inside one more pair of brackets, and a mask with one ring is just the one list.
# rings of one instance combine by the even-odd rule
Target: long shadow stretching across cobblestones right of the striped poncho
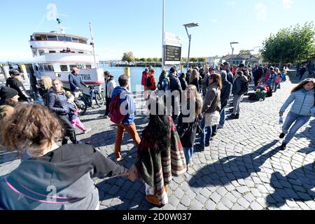
[[257,151],[241,156],[228,156],[214,164],[207,165],[197,171],[197,174],[193,176],[188,182],[191,187],[204,188],[207,186],[222,186],[236,181],[238,179],[246,179],[251,174],[260,172],[260,166],[265,161],[272,158],[273,155],[280,151],[280,148],[265,153],[269,148],[276,145],[278,141],[274,140],[271,143],[262,146]]

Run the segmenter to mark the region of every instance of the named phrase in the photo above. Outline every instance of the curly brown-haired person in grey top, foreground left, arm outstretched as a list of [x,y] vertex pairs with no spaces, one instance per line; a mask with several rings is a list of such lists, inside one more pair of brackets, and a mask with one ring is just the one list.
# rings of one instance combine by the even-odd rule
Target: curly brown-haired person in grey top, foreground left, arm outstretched
[[[93,178],[128,176],[127,169],[90,145],[57,146],[62,125],[41,105],[20,104],[20,116],[1,127],[3,144],[31,158],[0,180],[0,207],[8,210],[95,210]],[[45,119],[43,119],[45,118]],[[131,177],[131,176],[130,176]]]

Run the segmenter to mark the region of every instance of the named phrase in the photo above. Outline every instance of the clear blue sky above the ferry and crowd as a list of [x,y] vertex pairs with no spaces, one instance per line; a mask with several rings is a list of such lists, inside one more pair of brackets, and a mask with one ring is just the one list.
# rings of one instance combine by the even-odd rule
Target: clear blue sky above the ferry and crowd
[[[0,0],[0,61],[31,58],[29,35],[34,31],[57,30],[48,20],[49,3],[56,3],[66,32],[90,37],[92,22],[97,55],[120,59],[123,52],[136,57],[161,57],[162,0]],[[270,33],[291,25],[315,20],[314,0],[165,0],[165,30],[182,36],[182,55],[188,55],[191,28],[191,57],[231,53],[262,45]]]

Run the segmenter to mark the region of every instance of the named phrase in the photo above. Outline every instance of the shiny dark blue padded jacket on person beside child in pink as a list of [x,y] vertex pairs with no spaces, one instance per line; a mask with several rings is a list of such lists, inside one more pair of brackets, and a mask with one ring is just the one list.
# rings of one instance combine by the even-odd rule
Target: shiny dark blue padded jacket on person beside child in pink
[[50,92],[48,92],[48,109],[57,113],[57,116],[68,115],[70,111],[64,91],[56,92],[53,88],[50,89]]

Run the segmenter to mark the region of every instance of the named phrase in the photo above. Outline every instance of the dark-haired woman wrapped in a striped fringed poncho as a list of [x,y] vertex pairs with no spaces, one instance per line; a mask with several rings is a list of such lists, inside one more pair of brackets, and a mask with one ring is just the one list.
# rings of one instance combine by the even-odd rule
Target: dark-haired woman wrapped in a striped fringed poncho
[[151,98],[150,121],[142,132],[138,158],[130,169],[146,186],[146,200],[158,206],[168,203],[172,176],[186,172],[183,146],[174,122],[167,116],[163,99]]

